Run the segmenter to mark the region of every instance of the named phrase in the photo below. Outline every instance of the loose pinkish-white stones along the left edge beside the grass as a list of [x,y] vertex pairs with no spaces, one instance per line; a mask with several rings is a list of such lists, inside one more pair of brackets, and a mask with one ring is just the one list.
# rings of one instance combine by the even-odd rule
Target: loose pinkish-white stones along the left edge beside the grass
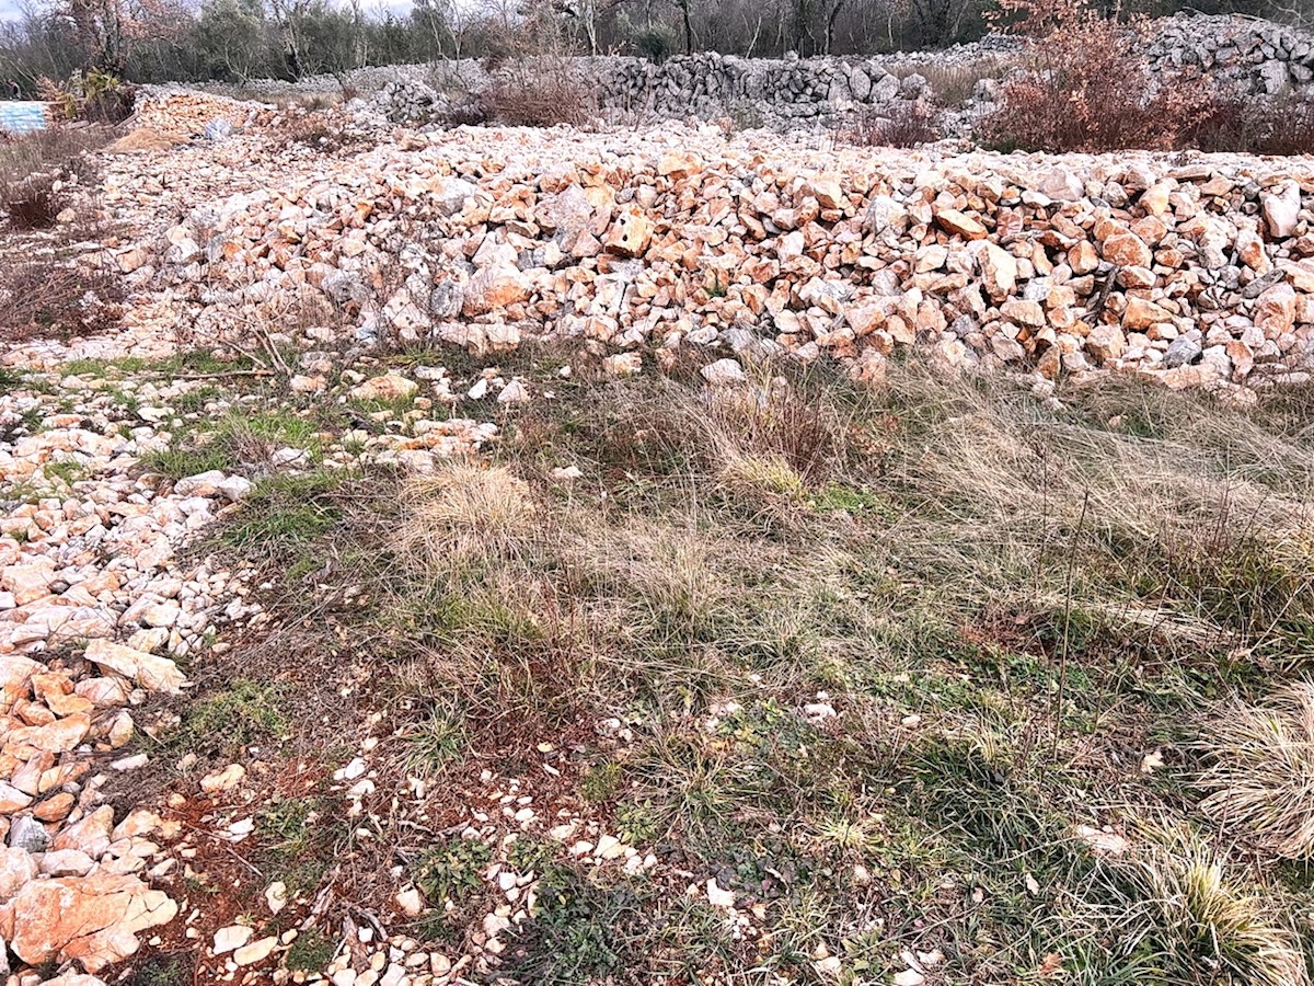
[[[116,824],[101,789],[146,766],[122,752],[134,707],[177,694],[175,659],[225,619],[227,575],[184,567],[177,548],[250,482],[162,493],[133,467],[163,439],[116,434],[76,379],[67,393],[80,400],[63,413],[35,394],[0,397],[0,939],[29,966],[95,973],[177,915],[147,882],[173,865],[162,843],[177,824],[146,810]],[[11,440],[24,418],[39,427]],[[93,479],[60,486],[60,471]],[[24,488],[38,492],[13,500]]]

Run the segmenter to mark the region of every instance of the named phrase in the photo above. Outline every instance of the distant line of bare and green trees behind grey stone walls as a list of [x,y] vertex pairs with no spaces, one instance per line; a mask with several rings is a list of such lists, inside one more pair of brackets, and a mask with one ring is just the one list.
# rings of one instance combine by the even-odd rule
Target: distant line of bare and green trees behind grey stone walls
[[[1307,0],[1092,0],[1113,16],[1181,9],[1286,22]],[[1286,4],[1290,5],[1286,9]],[[771,57],[942,47],[979,38],[995,0],[53,0],[0,28],[0,80],[92,67],[131,82],[344,76],[371,64],[499,58],[527,17],[551,18],[581,53]]]

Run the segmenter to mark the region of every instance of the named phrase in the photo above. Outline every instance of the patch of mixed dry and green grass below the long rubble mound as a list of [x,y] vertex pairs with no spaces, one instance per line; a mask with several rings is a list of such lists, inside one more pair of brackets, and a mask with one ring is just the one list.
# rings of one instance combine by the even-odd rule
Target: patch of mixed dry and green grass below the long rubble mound
[[[536,880],[518,982],[1309,982],[1307,394],[532,365],[556,397],[489,460],[261,494],[223,535],[315,559],[267,603],[330,614],[307,646],[396,722],[411,933],[460,948],[497,864]],[[662,862],[448,828],[489,772]],[[376,844],[332,873],[382,906]]]

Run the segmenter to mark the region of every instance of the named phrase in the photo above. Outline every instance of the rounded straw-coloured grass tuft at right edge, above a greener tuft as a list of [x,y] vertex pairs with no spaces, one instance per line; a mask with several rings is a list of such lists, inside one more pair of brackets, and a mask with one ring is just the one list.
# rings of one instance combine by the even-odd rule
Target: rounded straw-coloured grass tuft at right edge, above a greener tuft
[[1314,684],[1234,702],[1206,726],[1201,811],[1286,858],[1314,856]]

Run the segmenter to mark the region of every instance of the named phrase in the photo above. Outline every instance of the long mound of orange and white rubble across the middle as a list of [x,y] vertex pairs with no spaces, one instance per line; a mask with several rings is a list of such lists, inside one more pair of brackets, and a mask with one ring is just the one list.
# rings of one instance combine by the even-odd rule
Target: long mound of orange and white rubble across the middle
[[[710,126],[407,131],[292,167],[251,137],[225,156],[170,163],[214,192],[122,255],[202,338],[293,318],[363,343],[579,338],[618,365],[687,344],[872,376],[907,350],[1225,388],[1303,380],[1314,356],[1307,162],[817,149]],[[118,180],[130,197],[142,179]]]

